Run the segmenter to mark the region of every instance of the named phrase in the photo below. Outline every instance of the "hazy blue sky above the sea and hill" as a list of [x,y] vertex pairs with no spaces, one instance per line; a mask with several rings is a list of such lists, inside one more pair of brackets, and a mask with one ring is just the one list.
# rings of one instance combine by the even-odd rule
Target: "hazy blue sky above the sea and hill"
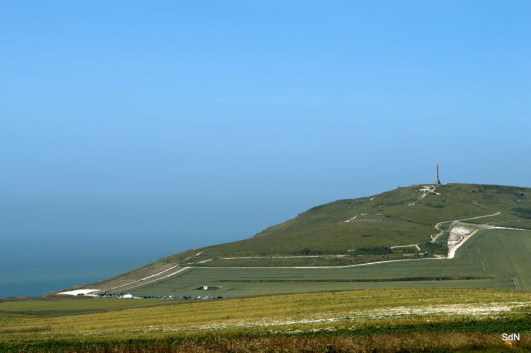
[[0,237],[252,236],[531,186],[530,1],[2,1]]

